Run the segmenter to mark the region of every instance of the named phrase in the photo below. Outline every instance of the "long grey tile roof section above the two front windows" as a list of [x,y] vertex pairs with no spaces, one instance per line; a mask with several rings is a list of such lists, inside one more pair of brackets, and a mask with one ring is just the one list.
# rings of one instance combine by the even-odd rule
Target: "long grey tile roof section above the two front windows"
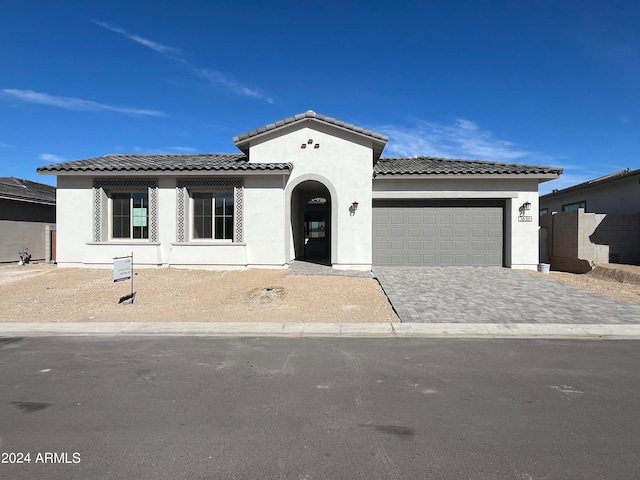
[[242,154],[143,154],[104,157],[57,163],[38,168],[38,173],[81,172],[290,172],[290,163],[249,163]]

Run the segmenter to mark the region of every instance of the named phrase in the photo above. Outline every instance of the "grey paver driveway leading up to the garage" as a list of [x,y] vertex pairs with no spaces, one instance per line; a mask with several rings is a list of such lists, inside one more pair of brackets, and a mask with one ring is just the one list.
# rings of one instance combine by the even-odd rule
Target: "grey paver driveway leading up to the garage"
[[375,267],[402,322],[640,323],[640,306],[493,267]]

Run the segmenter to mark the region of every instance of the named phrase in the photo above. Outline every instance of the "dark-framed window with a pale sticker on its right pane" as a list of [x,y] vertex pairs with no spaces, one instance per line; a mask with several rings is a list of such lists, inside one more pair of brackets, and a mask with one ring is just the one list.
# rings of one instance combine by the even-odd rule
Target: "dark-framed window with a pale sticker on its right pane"
[[149,238],[148,192],[111,193],[111,238]]

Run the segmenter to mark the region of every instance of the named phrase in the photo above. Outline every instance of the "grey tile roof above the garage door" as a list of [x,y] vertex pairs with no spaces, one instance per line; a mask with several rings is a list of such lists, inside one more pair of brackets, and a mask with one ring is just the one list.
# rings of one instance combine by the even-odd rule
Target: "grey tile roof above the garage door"
[[437,157],[381,158],[374,177],[393,175],[561,175],[561,168]]

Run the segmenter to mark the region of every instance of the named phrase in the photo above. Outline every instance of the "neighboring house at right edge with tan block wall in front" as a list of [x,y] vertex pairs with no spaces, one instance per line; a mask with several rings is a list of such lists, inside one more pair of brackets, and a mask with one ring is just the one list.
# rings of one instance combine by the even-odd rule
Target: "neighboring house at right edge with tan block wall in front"
[[[552,214],[552,215],[551,215]],[[586,272],[600,263],[640,265],[640,170],[621,170],[540,197],[542,260]]]

